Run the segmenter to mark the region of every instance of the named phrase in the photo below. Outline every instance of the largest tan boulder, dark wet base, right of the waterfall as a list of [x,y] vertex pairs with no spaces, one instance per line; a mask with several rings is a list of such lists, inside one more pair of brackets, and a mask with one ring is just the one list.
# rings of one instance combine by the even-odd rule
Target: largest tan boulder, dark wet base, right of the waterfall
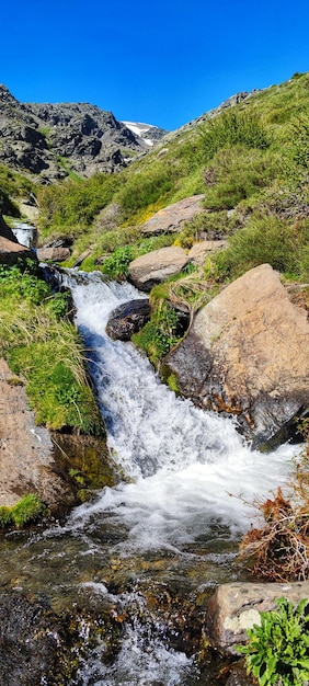
[[234,413],[260,445],[309,399],[309,322],[268,264],[226,287],[195,317],[168,356],[183,396],[205,409]]

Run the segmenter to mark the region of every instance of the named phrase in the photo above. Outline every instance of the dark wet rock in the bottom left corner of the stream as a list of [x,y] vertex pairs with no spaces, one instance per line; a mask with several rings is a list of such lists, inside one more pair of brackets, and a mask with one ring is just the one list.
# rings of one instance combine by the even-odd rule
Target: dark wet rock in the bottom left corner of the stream
[[121,631],[110,608],[99,614],[95,605],[80,610],[75,603],[57,615],[45,598],[0,595],[0,686],[81,686],[91,650],[100,640],[104,660],[111,660]]

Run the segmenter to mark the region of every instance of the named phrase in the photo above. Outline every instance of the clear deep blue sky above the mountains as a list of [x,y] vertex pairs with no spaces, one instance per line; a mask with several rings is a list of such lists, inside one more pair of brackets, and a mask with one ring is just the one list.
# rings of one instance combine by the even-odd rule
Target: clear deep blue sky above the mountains
[[0,82],[173,129],[308,71],[308,0],[7,0]]

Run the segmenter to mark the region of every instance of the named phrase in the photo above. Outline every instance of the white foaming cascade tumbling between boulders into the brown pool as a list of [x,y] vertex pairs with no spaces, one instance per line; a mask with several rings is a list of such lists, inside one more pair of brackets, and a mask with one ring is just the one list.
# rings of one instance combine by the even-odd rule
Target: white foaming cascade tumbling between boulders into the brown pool
[[252,511],[244,501],[283,484],[295,447],[251,451],[233,421],[176,398],[131,343],[108,339],[110,312],[142,297],[133,286],[105,283],[99,273],[69,281],[77,323],[92,351],[110,449],[130,481],[78,507],[70,525],[84,527],[93,515],[113,513],[127,530],[123,556],[160,548],[181,552],[214,522],[231,536],[245,530]]

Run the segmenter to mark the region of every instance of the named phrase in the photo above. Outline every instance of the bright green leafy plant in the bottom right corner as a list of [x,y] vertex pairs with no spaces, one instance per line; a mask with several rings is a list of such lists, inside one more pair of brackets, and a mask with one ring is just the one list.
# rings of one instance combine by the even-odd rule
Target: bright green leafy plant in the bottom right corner
[[261,626],[248,629],[249,643],[238,645],[238,651],[260,686],[305,686],[309,681],[309,602],[295,607],[282,597],[277,607],[261,613]]

